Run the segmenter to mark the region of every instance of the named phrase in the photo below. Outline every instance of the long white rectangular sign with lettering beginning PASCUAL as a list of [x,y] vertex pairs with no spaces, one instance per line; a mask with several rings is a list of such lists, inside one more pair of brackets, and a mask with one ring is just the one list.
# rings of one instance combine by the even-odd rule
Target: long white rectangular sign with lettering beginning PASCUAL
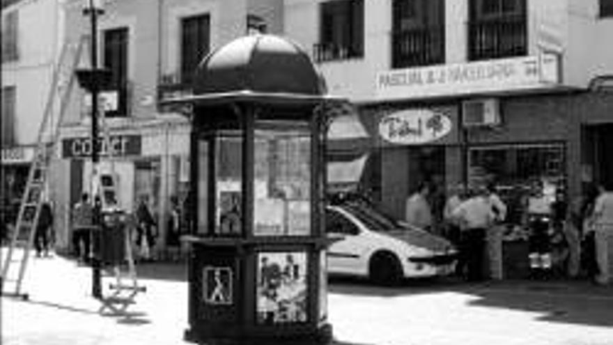
[[[424,98],[549,88],[557,85],[559,54],[450,63],[379,72],[379,99]],[[553,72],[553,73],[552,73]]]

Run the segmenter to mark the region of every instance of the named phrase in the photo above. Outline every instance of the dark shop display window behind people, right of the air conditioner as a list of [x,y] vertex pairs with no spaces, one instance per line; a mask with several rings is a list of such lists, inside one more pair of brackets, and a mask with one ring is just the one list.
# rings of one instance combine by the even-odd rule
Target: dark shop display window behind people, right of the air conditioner
[[522,222],[524,201],[535,181],[552,197],[564,188],[565,155],[562,144],[484,146],[470,149],[471,185],[495,183],[508,207],[506,221]]

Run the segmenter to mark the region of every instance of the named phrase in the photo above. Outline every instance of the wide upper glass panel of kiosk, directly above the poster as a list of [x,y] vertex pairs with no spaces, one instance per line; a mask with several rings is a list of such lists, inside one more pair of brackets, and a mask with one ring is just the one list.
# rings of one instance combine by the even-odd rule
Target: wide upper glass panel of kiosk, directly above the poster
[[311,233],[308,123],[258,121],[254,150],[254,234],[308,236]]

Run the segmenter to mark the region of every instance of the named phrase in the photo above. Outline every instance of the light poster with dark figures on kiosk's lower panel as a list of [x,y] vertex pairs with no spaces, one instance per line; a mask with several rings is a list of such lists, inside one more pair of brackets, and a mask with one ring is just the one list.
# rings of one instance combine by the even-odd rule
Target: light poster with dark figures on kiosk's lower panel
[[307,253],[260,252],[257,321],[263,325],[307,322]]

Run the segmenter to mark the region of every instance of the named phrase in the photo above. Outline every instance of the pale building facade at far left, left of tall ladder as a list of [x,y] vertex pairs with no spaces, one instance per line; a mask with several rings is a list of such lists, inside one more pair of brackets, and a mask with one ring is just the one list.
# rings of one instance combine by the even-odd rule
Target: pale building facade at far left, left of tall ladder
[[[17,217],[63,43],[63,1],[2,1],[2,224]],[[50,114],[53,121],[58,113]],[[54,190],[47,190],[54,201]]]

